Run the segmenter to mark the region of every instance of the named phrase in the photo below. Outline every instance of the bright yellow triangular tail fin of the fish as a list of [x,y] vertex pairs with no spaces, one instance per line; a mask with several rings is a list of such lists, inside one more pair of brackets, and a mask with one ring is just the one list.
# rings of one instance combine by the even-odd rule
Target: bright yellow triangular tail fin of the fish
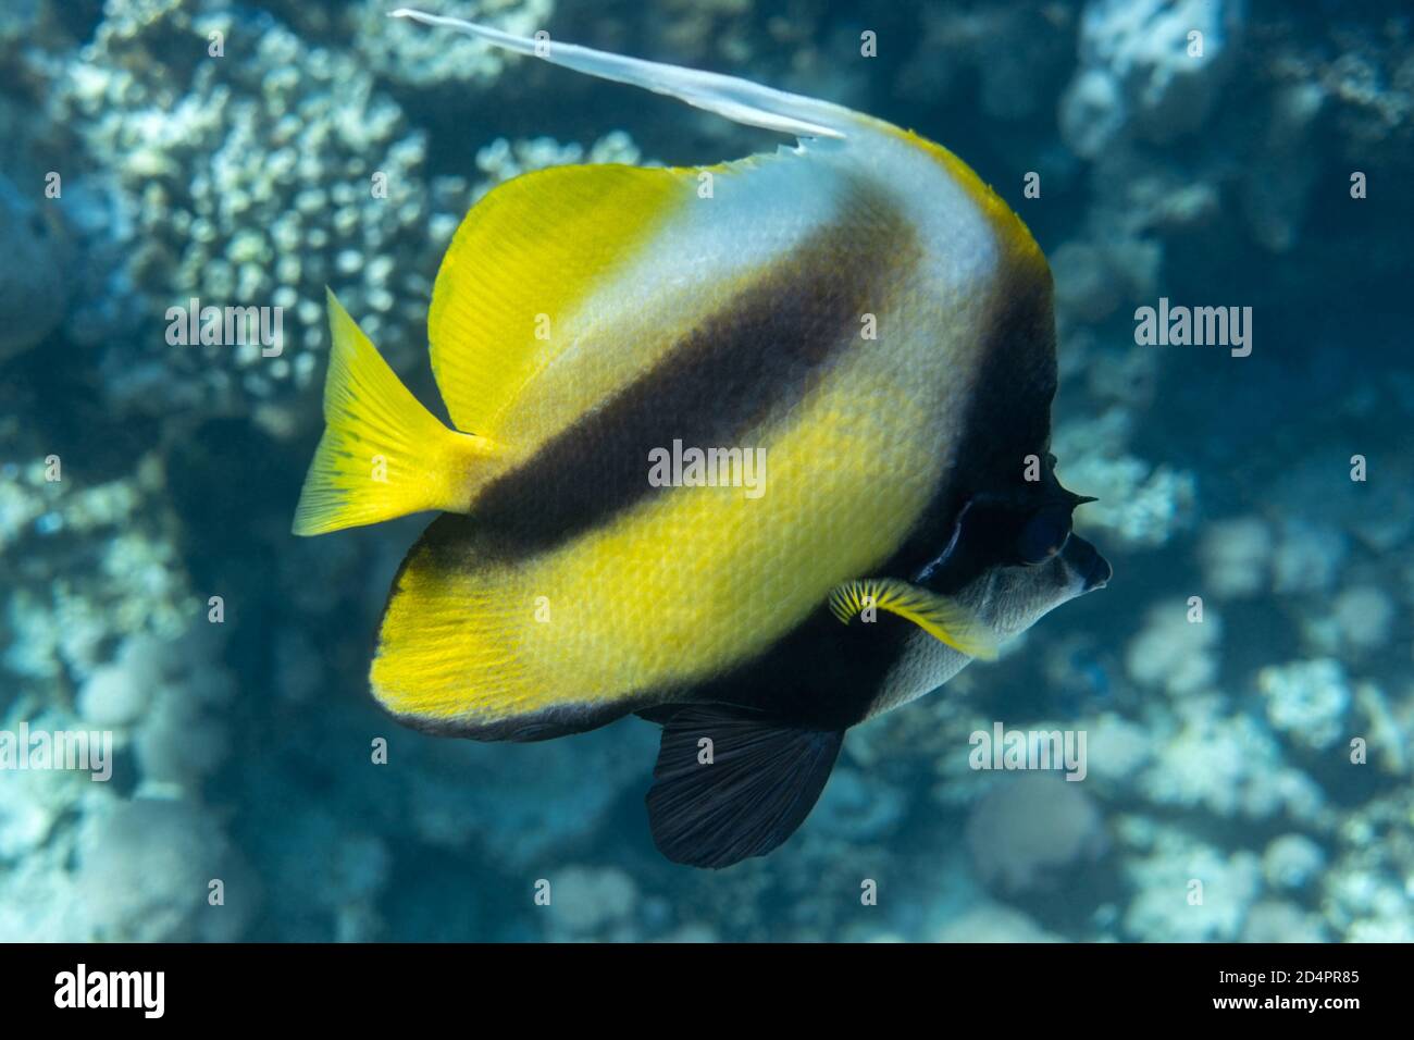
[[324,535],[423,509],[467,512],[485,478],[491,441],[443,426],[334,293],[328,304],[334,345],[324,436],[304,478],[294,533]]

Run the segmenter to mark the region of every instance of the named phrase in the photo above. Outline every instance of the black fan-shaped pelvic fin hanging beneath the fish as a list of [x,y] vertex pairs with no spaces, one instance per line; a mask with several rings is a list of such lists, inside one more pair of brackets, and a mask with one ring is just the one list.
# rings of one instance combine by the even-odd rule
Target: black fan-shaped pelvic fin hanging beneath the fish
[[697,867],[765,856],[810,815],[843,740],[721,705],[679,709],[648,792],[653,843]]

